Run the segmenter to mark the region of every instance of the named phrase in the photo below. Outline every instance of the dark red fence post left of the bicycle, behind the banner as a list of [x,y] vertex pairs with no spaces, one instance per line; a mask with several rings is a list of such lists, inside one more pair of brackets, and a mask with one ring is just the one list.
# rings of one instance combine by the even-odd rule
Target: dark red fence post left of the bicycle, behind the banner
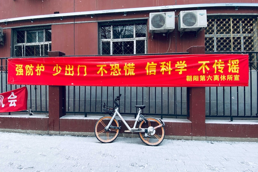
[[[48,57],[60,57],[65,53],[49,51]],[[60,134],[59,118],[66,114],[66,87],[48,86],[48,134]]]

